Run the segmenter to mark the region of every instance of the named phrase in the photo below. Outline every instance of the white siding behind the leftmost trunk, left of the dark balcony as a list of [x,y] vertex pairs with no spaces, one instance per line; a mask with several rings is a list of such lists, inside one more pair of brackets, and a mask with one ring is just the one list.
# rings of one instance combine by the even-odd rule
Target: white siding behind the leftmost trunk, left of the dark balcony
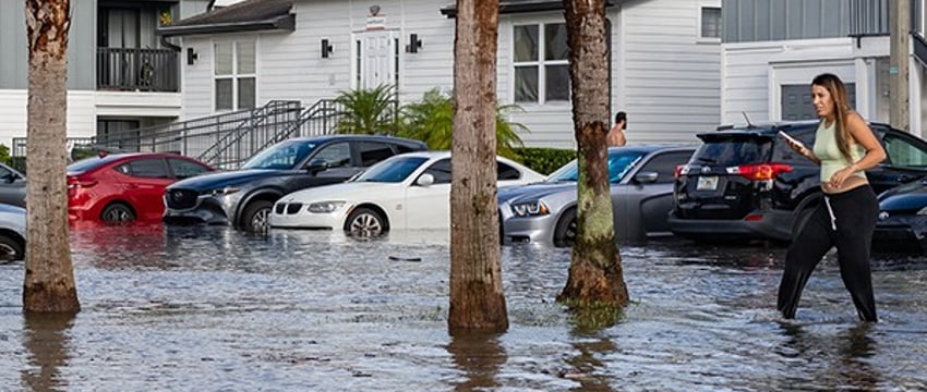
[[[68,91],[68,136],[86,137],[96,133],[95,93]],[[26,105],[24,89],[0,90],[0,144],[13,146],[13,137],[26,136]]]

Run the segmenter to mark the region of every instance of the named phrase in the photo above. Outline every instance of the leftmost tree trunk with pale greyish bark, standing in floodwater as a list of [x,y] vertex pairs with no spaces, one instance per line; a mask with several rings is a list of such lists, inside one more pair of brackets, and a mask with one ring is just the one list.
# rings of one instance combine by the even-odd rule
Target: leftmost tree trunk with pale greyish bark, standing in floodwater
[[67,108],[70,0],[26,0],[29,47],[26,272],[23,308],[77,313],[68,236]]

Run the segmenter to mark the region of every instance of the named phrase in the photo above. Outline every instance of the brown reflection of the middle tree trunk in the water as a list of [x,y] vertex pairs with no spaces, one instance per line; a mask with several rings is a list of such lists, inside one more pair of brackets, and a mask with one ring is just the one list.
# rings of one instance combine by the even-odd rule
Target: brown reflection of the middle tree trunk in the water
[[467,380],[455,385],[456,391],[473,391],[499,387],[496,376],[507,355],[498,342],[497,334],[455,333],[447,352],[456,368],[466,373]]

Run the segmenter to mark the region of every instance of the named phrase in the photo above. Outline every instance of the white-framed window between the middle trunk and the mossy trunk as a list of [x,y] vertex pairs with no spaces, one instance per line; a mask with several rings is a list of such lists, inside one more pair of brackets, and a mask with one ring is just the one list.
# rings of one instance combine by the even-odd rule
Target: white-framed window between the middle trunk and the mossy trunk
[[564,23],[514,26],[515,102],[568,101],[568,51]]

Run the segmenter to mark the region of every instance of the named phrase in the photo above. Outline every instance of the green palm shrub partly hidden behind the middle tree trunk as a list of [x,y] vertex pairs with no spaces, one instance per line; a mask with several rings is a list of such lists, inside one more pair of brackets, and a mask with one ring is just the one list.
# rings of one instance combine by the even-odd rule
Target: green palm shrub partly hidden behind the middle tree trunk
[[[520,110],[517,105],[496,108],[496,151],[503,157],[518,159],[515,149],[523,145],[518,131],[528,132],[528,127],[507,120],[510,113]],[[454,100],[450,96],[433,88],[422,96],[422,100],[404,106],[401,113],[399,136],[422,140],[431,149],[450,149],[454,124]]]

